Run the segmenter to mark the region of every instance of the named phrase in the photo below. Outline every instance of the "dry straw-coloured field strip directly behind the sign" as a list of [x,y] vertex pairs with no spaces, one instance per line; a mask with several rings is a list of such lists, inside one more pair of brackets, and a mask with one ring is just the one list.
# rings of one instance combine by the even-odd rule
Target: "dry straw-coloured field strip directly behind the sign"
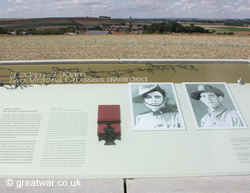
[[0,60],[250,59],[250,36],[0,36]]

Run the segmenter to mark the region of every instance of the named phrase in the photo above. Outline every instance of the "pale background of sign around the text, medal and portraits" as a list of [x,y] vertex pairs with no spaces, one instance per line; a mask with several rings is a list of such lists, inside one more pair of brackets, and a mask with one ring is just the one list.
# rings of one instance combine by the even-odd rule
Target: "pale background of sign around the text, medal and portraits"
[[[228,86],[249,126],[250,85]],[[231,138],[249,137],[249,129],[197,130],[182,84],[175,84],[175,87],[187,128],[184,131],[132,131],[127,84],[0,88],[0,113],[6,107],[19,107],[37,109],[44,115],[34,163],[29,166],[0,165],[0,176],[132,178],[249,174],[250,163],[239,163],[231,143]],[[104,146],[97,137],[98,105],[117,104],[121,109],[121,141],[117,140],[115,146]],[[81,168],[39,167],[52,107],[80,108],[88,112],[87,156]]]

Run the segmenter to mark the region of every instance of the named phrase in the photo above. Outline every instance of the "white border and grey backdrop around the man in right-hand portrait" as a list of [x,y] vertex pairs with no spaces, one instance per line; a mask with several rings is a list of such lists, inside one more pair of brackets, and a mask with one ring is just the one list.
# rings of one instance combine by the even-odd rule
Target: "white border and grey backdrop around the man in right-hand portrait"
[[[218,130],[218,129],[247,129],[248,128],[225,82],[183,82],[182,85],[184,87],[186,98],[188,100],[190,110],[192,111],[193,120],[197,129],[217,129]],[[189,87],[195,87],[195,89],[189,88],[188,90],[187,88],[188,85]],[[195,99],[192,99],[192,97],[190,96],[191,93],[198,91],[199,85],[211,85],[213,87],[219,87],[218,89],[222,90],[222,92],[225,92],[224,93],[225,96],[223,97],[223,100],[221,103],[228,110],[233,110],[234,112],[238,114],[238,117],[242,123],[242,126],[205,126],[205,127],[201,126],[201,119],[208,114],[208,107],[204,103],[202,103],[199,99],[195,100]],[[199,111],[197,109],[199,109]]]

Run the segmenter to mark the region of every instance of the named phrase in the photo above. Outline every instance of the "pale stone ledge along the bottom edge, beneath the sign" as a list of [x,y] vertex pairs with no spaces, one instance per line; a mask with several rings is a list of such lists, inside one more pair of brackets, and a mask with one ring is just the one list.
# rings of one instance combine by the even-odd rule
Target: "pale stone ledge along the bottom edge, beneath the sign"
[[0,179],[1,193],[250,193],[250,176],[9,180]]

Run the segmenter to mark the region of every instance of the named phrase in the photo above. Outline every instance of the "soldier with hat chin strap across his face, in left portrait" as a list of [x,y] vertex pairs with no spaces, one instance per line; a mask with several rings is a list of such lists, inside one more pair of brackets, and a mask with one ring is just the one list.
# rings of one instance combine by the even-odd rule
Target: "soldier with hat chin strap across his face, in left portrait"
[[182,120],[176,109],[170,108],[166,90],[159,84],[143,84],[138,87],[134,103],[140,103],[148,109],[136,115],[135,129],[174,129],[182,127]]

